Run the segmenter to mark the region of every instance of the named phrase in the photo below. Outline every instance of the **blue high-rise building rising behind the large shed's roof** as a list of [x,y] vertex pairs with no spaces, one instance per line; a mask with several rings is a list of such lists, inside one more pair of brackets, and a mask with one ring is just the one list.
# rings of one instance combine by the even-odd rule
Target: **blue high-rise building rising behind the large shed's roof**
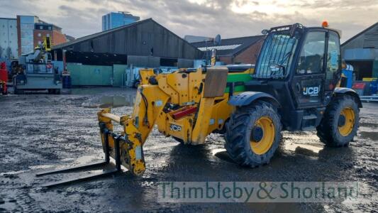
[[139,20],[140,17],[133,16],[128,12],[107,13],[106,15],[102,16],[102,31],[109,31],[113,28],[125,26]]

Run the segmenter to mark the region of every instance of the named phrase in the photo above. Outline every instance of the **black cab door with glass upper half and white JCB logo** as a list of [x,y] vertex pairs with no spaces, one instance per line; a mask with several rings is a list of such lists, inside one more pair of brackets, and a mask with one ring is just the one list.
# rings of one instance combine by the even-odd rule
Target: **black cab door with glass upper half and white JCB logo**
[[308,31],[301,45],[291,81],[298,109],[323,102],[325,84],[326,31]]

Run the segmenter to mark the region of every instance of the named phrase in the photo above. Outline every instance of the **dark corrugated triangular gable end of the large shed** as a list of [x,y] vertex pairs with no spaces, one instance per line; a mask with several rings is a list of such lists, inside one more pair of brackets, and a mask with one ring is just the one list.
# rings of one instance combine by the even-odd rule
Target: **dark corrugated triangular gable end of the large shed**
[[[79,53],[153,55],[161,58],[201,58],[202,52],[152,18],[55,45],[52,50]],[[60,51],[58,51],[60,52]]]

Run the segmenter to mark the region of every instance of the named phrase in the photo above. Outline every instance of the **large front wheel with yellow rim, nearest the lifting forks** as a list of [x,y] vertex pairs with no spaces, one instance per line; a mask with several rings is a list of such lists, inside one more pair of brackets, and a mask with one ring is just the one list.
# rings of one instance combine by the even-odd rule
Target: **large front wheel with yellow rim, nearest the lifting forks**
[[236,163],[256,167],[269,163],[281,141],[282,124],[267,102],[236,109],[226,126],[225,148]]

